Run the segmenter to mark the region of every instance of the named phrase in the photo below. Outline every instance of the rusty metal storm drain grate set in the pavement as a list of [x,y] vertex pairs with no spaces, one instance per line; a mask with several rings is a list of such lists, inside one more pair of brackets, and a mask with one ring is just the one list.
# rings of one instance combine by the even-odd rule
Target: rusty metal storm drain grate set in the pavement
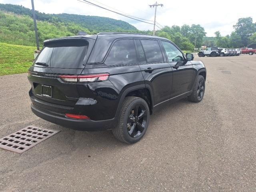
[[23,153],[60,131],[28,126],[0,138],[0,148]]

